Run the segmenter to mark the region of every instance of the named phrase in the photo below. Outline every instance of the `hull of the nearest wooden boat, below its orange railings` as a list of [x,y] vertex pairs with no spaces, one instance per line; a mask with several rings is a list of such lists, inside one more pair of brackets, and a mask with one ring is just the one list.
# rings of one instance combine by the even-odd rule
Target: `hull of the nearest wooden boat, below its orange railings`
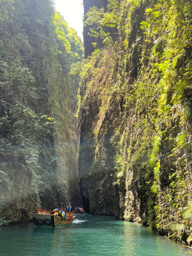
[[57,226],[65,226],[66,224],[71,224],[74,221],[75,216],[71,218],[61,218],[60,216],[56,216],[53,214],[36,214],[32,213],[33,223],[35,226],[50,226],[50,227],[57,227]]

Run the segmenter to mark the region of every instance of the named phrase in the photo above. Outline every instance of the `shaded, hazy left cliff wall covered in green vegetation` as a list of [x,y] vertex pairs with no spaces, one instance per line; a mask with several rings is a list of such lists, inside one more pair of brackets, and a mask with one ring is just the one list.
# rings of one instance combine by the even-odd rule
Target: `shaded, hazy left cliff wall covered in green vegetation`
[[83,45],[51,0],[0,0],[0,6],[0,222],[5,224],[23,219],[23,208],[27,215],[37,204],[52,208],[73,197],[79,78],[68,74],[82,59]]

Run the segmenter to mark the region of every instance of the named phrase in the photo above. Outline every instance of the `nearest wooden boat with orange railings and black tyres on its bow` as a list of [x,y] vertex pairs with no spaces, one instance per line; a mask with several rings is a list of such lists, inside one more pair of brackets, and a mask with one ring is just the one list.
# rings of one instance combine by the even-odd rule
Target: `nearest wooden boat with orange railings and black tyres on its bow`
[[[65,211],[65,210],[64,210]],[[52,226],[53,228],[57,227],[58,225],[66,225],[71,224],[74,221],[75,216],[71,212],[65,211],[65,219],[51,214],[51,210],[47,211],[42,210],[41,208],[37,208],[36,213],[31,213],[33,218],[33,223],[35,226]]]

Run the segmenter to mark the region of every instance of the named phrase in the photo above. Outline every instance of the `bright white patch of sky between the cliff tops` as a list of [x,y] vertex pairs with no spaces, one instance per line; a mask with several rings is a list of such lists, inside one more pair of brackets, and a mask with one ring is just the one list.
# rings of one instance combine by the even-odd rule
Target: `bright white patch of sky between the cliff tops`
[[64,16],[69,27],[74,28],[83,38],[83,1],[55,0],[55,8]]

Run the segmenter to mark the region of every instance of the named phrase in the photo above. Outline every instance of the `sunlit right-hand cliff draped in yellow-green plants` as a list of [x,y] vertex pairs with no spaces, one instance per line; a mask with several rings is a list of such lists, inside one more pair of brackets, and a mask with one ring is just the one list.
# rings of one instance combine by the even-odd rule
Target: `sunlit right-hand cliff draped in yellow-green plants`
[[189,2],[121,3],[118,38],[86,60],[81,85],[83,207],[190,243]]

